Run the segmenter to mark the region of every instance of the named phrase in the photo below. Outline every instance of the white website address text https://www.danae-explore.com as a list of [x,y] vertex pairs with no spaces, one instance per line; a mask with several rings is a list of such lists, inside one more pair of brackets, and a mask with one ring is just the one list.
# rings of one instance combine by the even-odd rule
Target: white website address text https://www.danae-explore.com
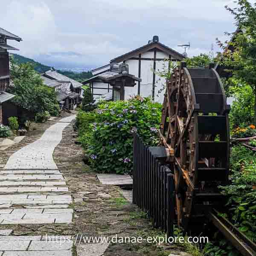
[[141,237],[141,236],[86,236],[84,234],[77,234],[75,236],[58,236],[58,235],[46,235],[45,241],[47,242],[55,242],[59,244],[63,243],[71,243],[73,242],[76,244],[97,244],[97,243],[131,243],[131,244],[141,244],[141,243],[148,243],[148,244],[162,244],[162,243],[208,243],[209,239],[207,236],[174,236],[168,237],[165,236],[148,236],[148,237]]

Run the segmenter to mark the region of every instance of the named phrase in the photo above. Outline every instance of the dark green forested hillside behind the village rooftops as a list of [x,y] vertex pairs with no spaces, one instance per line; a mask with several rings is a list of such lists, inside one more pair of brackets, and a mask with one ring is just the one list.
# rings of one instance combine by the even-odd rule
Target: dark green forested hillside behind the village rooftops
[[[18,55],[18,54],[13,54],[13,58],[14,61],[16,61],[18,64],[22,64],[22,63],[31,63],[34,66],[35,71],[37,71],[38,73],[44,73],[48,70],[50,70],[51,68],[54,69],[54,67],[50,67],[44,64],[41,64],[38,61],[34,61],[31,58],[26,58],[24,56]],[[68,76],[71,79],[75,79],[76,81],[84,81],[90,77],[93,76],[93,74],[90,71],[87,72],[81,72],[81,73],[77,73],[77,72],[72,72],[72,71],[64,71],[64,70],[57,70],[59,73],[63,74],[64,76]]]

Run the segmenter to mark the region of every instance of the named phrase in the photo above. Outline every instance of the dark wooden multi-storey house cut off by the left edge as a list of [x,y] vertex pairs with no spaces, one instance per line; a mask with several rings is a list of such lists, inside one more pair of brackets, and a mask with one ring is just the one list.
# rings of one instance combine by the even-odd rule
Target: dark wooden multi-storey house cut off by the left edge
[[7,44],[7,40],[16,40],[20,42],[22,39],[11,32],[0,28],[0,124],[7,124],[7,116],[9,108],[5,103],[15,97],[15,95],[7,93],[10,86],[10,67],[8,50],[18,50]]

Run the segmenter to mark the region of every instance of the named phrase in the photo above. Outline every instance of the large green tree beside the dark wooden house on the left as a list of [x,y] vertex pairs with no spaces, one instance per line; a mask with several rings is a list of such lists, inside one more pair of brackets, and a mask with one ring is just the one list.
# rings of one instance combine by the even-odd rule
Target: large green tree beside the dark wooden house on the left
[[11,61],[11,79],[14,86],[10,93],[16,97],[12,102],[32,113],[48,111],[58,114],[58,101],[55,90],[44,85],[41,76],[35,72],[31,64],[15,64]]

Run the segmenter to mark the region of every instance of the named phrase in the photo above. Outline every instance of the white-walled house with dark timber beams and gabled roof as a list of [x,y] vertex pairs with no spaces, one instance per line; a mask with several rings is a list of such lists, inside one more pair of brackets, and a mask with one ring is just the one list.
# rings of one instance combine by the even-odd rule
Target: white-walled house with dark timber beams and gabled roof
[[[148,44],[113,58],[110,64],[92,70],[93,77],[84,81],[83,84],[90,85],[94,99],[105,97],[106,93],[111,95],[113,87],[109,82],[104,81],[104,78],[111,76],[114,71],[112,64],[126,63],[129,65],[129,73],[142,81],[138,81],[134,87],[125,89],[125,99],[141,95],[152,96],[155,101],[163,102],[165,90],[161,91],[161,89],[165,84],[165,78],[158,76],[154,70],[162,71],[164,60],[176,62],[183,58],[184,55],[160,43],[158,36],[154,36]],[[170,69],[170,66],[167,68]]]

